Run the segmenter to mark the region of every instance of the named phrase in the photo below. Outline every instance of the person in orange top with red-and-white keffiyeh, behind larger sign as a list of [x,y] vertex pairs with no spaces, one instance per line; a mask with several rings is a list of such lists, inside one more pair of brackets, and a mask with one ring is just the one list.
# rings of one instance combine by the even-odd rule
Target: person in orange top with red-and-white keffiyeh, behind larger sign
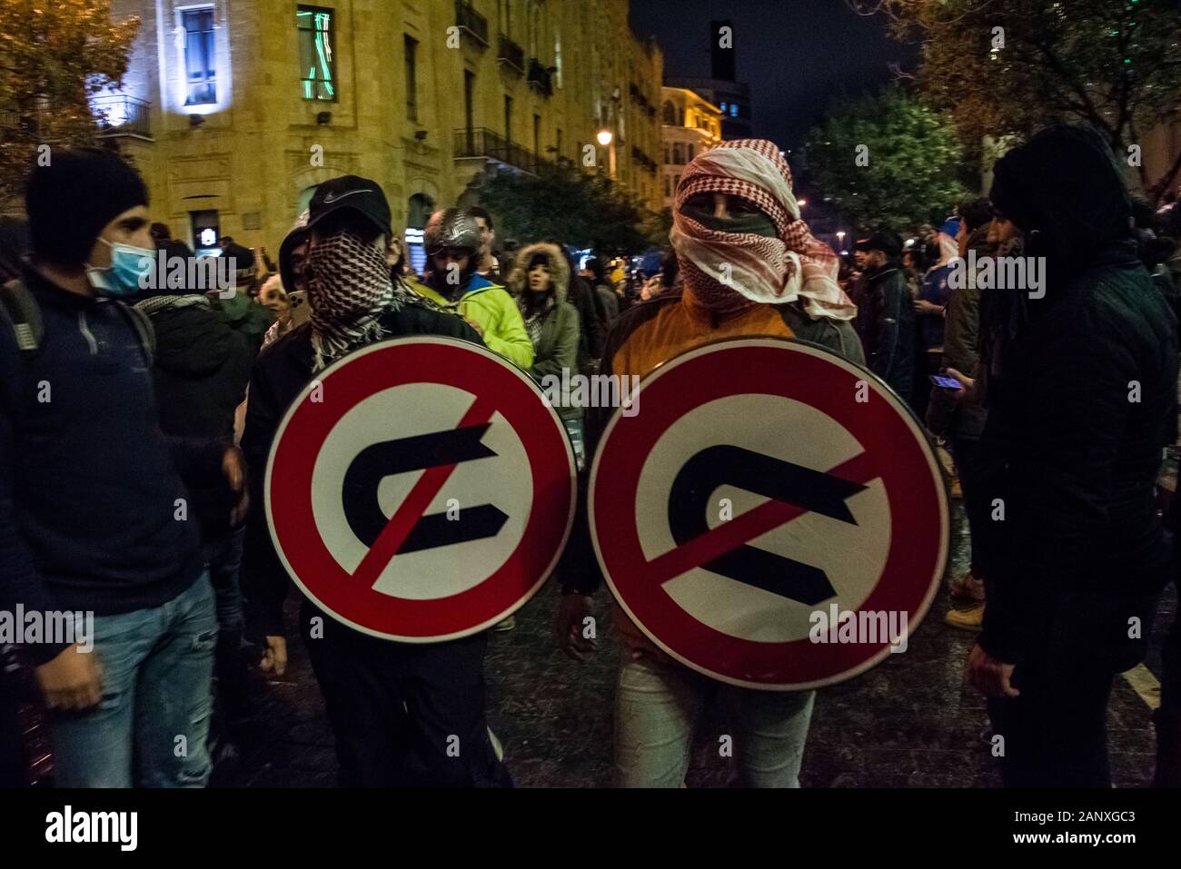
[[[774,143],[726,142],[694,158],[677,189],[673,221],[671,239],[684,288],[670,288],[620,315],[603,353],[606,373],[647,375],[710,341],[753,335],[802,338],[863,364],[850,325],[856,308],[836,283],[836,256],[801,220],[791,170]],[[735,373],[733,386],[740,387],[743,375]],[[848,401],[854,401],[852,392]],[[645,414],[654,413],[647,399],[645,407]],[[606,416],[588,413],[590,452]],[[752,426],[755,419],[746,417],[742,424]],[[781,438],[785,434],[778,432]],[[673,509],[668,501],[666,510]],[[583,659],[594,651],[586,620],[592,612],[589,595],[601,576],[588,518],[594,517],[580,515],[576,521],[560,568],[565,595],[556,625],[561,646]],[[668,524],[672,521],[670,516]],[[631,653],[615,698],[620,784],[680,786],[693,721],[718,685],[683,667],[625,613],[615,615]],[[744,783],[797,786],[814,693],[737,685],[722,691],[733,714],[735,756]]]

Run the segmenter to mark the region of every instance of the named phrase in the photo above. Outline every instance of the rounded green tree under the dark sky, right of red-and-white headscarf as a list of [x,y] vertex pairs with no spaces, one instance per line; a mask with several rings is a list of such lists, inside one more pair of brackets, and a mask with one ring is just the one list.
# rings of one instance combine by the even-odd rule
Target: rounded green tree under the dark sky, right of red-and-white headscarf
[[826,200],[864,228],[903,231],[967,195],[953,125],[899,85],[837,103],[808,133],[805,159]]

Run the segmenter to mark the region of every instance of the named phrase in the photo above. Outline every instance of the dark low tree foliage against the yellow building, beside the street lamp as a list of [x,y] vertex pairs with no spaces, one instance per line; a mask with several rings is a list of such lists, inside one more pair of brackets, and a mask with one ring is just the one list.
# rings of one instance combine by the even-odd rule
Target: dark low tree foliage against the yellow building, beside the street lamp
[[567,161],[543,164],[536,175],[496,172],[484,182],[479,200],[496,216],[497,233],[522,243],[548,239],[638,254],[652,247],[660,231],[659,216],[620,184]]

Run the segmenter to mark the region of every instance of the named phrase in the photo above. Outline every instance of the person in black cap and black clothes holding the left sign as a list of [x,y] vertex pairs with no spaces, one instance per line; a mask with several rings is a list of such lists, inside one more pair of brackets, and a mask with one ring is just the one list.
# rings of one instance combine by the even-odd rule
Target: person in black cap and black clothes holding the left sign
[[[399,335],[478,342],[461,318],[429,307],[391,279],[390,207],[377,183],[344,176],[320,184],[309,205],[308,230],[311,322],[268,347],[250,379],[242,445],[257,504],[265,502],[262,471],[285,411],[333,361]],[[332,396],[331,384],[325,392]],[[268,476],[286,472],[282,466],[269,470]],[[282,605],[288,588],[288,574],[259,510],[247,534],[243,592],[248,629],[265,638],[262,668],[278,675],[287,661]],[[344,784],[509,783],[484,721],[484,634],[430,646],[394,643],[342,625],[308,601],[300,621]]]

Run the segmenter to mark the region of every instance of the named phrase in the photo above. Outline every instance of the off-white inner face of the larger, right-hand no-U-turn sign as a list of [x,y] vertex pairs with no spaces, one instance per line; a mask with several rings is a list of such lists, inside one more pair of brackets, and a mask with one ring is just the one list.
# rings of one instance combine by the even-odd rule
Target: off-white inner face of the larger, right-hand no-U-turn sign
[[[735,419],[758,420],[758,425],[735,426]],[[831,417],[779,396],[730,396],[693,409],[657,440],[637,486],[637,527],[648,561],[678,547],[668,522],[673,483],[693,456],[715,446],[748,451],[739,460],[765,456],[820,472],[864,451]],[[723,483],[704,501],[706,527],[713,529],[771,498]],[[844,504],[854,522],[808,511],[752,537],[748,545],[820,569],[833,587],[824,605],[835,601],[842,609],[856,609],[886,566],[890,511],[881,478],[867,483]],[[693,619],[726,635],[759,642],[807,638],[816,608],[815,601],[792,597],[787,587],[770,590],[702,566],[667,580],[664,589]]]

